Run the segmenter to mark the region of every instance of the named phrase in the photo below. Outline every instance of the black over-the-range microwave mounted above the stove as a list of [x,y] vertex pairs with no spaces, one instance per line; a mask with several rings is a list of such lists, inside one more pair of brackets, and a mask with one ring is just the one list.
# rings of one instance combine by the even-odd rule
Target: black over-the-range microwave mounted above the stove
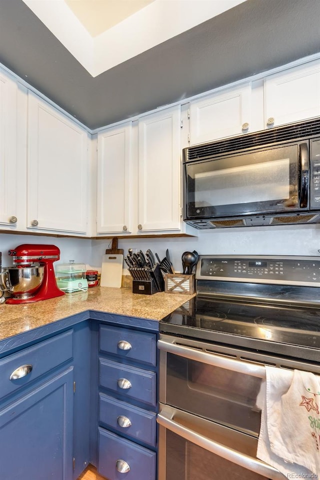
[[320,222],[320,117],[182,150],[195,228]]

